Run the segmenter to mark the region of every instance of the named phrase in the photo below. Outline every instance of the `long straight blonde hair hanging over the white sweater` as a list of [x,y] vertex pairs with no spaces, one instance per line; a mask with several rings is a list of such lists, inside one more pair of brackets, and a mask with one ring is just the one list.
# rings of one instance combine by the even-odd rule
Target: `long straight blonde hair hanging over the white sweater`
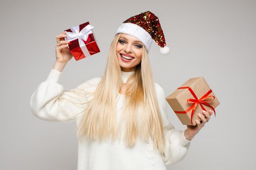
[[[165,139],[158,99],[148,53],[142,47],[141,63],[126,82],[125,105],[117,124],[117,95],[122,84],[116,47],[121,34],[115,35],[108,55],[105,73],[84,110],[77,136],[99,142],[111,136],[115,141],[125,125],[124,141],[133,147],[137,137],[154,142],[154,149],[164,153]],[[118,128],[117,128],[118,127]]]

